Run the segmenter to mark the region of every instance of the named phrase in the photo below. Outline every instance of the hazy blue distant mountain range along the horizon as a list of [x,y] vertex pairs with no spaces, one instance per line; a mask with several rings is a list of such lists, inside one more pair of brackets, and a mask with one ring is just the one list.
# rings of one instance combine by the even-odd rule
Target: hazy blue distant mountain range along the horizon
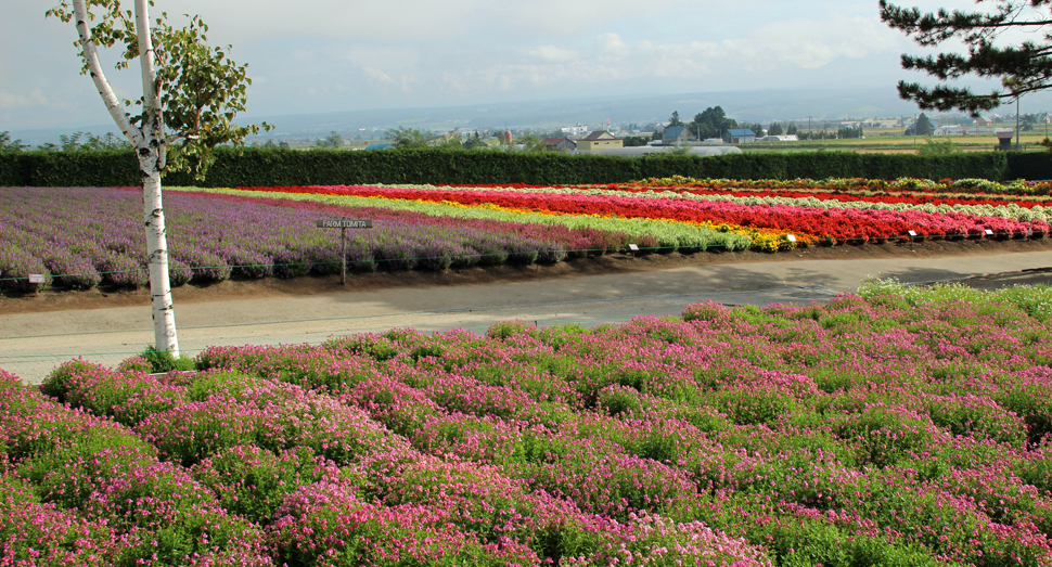
[[[382,132],[397,127],[421,130],[461,130],[534,128],[556,129],[577,124],[599,128],[613,125],[659,123],[668,120],[673,111],[690,120],[709,106],[722,106],[729,116],[740,121],[807,120],[820,125],[822,120],[841,118],[874,118],[912,116],[919,111],[912,103],[898,98],[894,86],[881,89],[821,89],[821,90],[767,90],[723,91],[705,93],[676,93],[645,98],[595,96],[567,98],[550,101],[516,103],[473,104],[464,106],[384,108],[371,111],[344,111],[317,114],[287,114],[272,116],[246,116],[245,121],[266,120],[277,128],[259,139],[310,139],[323,138],[336,131],[345,139],[361,136],[377,138]],[[1037,93],[1023,100],[1022,113],[1039,113],[1052,109],[1052,93]],[[1015,114],[1015,106],[1005,106],[1004,114]],[[928,113],[937,116],[938,113]],[[112,125],[79,128],[48,128],[12,130],[12,138],[24,143],[57,143],[61,134],[73,131],[92,132],[97,136],[116,131]]]

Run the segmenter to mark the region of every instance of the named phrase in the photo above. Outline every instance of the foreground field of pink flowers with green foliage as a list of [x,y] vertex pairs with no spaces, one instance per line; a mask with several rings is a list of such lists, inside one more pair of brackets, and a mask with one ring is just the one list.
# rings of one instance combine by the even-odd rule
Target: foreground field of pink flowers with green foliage
[[1052,291],[0,372],[3,565],[1047,566]]

